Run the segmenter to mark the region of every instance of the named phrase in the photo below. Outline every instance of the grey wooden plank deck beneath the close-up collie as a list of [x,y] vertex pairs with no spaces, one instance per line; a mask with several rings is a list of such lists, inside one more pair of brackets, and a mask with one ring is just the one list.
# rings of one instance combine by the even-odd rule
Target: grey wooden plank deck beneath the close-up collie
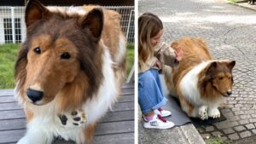
[[[0,89],[0,144],[13,144],[26,132],[26,118],[14,89]],[[134,143],[134,84],[124,84],[119,102],[96,126],[95,144]],[[73,144],[55,141],[55,144]]]

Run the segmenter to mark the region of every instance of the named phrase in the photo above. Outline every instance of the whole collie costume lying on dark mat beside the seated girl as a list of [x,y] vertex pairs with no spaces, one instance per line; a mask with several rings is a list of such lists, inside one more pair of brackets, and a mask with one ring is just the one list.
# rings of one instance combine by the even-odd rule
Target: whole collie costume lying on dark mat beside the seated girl
[[212,60],[201,38],[184,37],[172,48],[183,49],[177,69],[166,66],[164,75],[171,95],[176,95],[189,117],[219,118],[219,104],[232,94],[234,60]]

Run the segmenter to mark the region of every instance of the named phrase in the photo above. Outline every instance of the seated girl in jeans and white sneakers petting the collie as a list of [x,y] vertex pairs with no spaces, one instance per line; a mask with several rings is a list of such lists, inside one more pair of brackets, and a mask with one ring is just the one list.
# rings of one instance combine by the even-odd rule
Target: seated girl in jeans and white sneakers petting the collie
[[163,118],[170,116],[171,112],[161,109],[167,100],[161,88],[159,70],[161,64],[177,66],[183,52],[160,42],[163,24],[156,15],[141,15],[138,29],[138,102],[143,112],[144,127],[169,129],[174,124]]

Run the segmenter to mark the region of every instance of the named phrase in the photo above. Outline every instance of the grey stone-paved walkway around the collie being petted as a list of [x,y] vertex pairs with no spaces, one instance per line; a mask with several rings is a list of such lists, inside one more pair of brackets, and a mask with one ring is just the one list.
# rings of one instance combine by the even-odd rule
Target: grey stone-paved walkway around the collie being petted
[[198,127],[203,138],[237,141],[256,136],[256,11],[220,0],[142,0],[139,14],[164,22],[163,40],[204,37],[215,59],[236,60],[233,95],[221,109],[226,121]]

